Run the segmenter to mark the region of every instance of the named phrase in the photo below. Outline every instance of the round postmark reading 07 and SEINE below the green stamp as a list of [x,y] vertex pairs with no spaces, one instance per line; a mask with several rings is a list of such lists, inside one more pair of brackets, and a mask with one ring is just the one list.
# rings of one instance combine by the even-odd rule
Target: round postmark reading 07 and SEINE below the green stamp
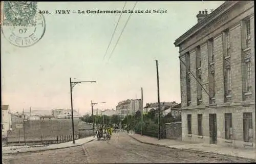
[[13,45],[19,47],[28,47],[37,43],[46,31],[45,17],[36,13],[33,17],[33,26],[5,26],[1,27],[1,31],[5,38]]

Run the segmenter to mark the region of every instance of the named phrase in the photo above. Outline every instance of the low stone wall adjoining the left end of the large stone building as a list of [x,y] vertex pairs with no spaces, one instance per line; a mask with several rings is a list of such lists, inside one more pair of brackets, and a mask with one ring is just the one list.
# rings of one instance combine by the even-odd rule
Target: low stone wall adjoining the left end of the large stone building
[[175,123],[167,123],[165,124],[166,127],[166,138],[169,139],[182,139],[182,123],[175,122]]

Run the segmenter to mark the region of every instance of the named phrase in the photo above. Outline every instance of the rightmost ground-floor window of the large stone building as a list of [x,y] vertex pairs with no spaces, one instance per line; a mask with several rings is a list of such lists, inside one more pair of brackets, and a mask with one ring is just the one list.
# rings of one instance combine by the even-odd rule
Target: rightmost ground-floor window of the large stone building
[[243,113],[244,142],[252,143],[252,113]]

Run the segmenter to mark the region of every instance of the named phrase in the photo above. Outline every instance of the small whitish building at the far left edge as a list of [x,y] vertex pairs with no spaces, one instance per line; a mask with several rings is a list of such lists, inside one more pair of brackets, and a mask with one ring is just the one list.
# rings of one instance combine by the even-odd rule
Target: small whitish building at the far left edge
[[12,130],[10,106],[2,105],[2,137],[7,136],[8,130]]

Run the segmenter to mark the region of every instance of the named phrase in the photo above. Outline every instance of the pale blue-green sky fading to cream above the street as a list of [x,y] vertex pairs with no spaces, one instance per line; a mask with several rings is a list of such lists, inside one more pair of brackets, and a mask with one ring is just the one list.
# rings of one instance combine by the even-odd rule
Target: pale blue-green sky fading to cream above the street
[[[167,13],[132,13],[128,21],[130,13],[123,13],[105,58],[120,14],[55,14],[122,10],[124,3],[37,2],[38,10],[51,12],[44,14],[46,31],[37,43],[20,48],[1,32],[2,104],[13,111],[71,108],[72,78],[96,81],[73,88],[73,108],[81,114],[90,112],[91,101],[105,102],[94,108],[115,109],[120,101],[140,99],[141,87],[145,106],[158,101],[155,60],[160,102],[180,103],[179,48],[174,41],[197,24],[200,10],[216,9],[223,1],[138,2],[134,11]],[[132,10],[135,3],[127,2],[124,10]]]

